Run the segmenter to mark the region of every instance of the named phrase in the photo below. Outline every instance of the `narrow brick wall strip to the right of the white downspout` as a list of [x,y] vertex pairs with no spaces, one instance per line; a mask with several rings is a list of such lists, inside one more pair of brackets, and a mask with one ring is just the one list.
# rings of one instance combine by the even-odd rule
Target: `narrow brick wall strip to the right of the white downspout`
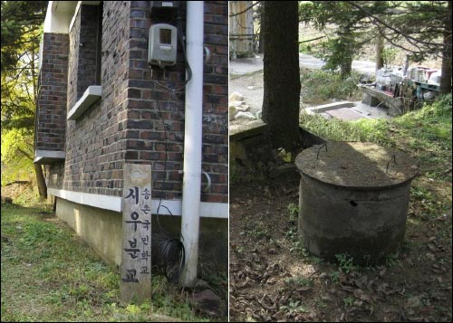
[[228,6],[205,2],[205,45],[211,52],[203,77],[203,170],[212,180],[206,202],[228,203]]

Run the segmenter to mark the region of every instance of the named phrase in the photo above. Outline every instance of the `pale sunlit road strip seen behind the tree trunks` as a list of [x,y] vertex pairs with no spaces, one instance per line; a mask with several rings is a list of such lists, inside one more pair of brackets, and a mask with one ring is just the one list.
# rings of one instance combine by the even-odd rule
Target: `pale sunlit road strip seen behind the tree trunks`
[[[311,55],[299,53],[299,66],[308,69],[319,70],[325,62]],[[361,73],[374,74],[375,62],[368,61],[353,61],[352,69]],[[229,62],[230,74],[246,74],[253,71],[263,70],[263,57],[256,56],[255,58],[240,58],[236,61]]]

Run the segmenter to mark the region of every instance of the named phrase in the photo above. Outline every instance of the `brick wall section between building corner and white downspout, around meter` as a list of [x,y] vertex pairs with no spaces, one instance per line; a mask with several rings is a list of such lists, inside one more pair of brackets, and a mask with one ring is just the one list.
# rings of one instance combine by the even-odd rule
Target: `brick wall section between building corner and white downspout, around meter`
[[[176,12],[170,14],[176,17]],[[178,43],[177,64],[167,67],[165,73],[169,81],[164,81],[159,67],[152,67],[151,73],[147,62],[149,27],[159,23],[167,21],[156,15],[151,18],[147,2],[131,2],[126,160],[150,162],[153,197],[176,199],[182,195],[182,175],[178,170],[183,168],[184,91],[172,94],[157,81],[170,89],[180,88],[185,80],[185,60]]]

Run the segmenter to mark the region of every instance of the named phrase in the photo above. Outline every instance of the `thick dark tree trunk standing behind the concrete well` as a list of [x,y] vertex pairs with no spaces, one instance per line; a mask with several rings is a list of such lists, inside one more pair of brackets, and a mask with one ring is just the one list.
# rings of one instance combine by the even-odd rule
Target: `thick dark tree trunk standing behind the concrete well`
[[274,148],[295,152],[299,138],[298,3],[265,3],[265,57],[263,120],[269,126]]

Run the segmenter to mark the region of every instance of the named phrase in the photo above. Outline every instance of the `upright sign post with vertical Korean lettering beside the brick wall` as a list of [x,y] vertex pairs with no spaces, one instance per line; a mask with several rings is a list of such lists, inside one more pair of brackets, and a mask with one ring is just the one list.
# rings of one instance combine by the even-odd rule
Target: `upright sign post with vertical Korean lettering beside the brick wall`
[[151,299],[151,166],[125,164],[122,195],[120,299]]

